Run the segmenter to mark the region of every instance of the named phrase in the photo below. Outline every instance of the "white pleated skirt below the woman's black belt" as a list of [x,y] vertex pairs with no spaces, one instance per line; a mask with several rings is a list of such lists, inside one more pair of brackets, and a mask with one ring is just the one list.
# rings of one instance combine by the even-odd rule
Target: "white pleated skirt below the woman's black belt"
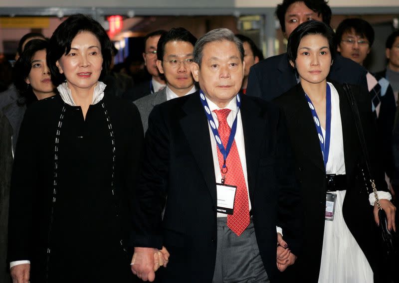
[[333,193],[337,202],[334,221],[325,220],[319,283],[373,283],[371,266],[342,215],[346,190]]

